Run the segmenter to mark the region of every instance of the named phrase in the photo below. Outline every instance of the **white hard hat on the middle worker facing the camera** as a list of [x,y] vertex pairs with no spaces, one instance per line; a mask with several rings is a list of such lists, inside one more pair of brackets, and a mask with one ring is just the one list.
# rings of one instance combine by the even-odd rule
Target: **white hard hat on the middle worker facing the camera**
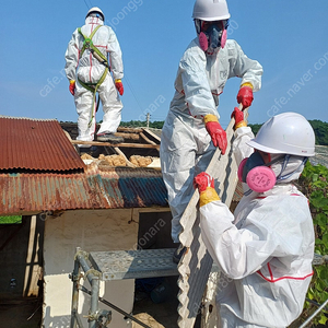
[[225,0],[196,0],[192,19],[202,21],[223,21],[230,19]]

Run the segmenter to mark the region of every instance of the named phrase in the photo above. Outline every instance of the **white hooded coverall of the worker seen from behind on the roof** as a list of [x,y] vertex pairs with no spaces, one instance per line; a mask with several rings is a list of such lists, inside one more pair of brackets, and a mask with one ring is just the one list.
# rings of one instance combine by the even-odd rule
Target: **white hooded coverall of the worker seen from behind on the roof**
[[[121,59],[121,50],[117,37],[112,27],[104,25],[104,22],[98,17],[89,16],[85,19],[85,25],[81,27],[81,32],[85,36],[90,36],[97,25],[102,25],[92,38],[92,42],[101,52],[107,57],[109,54],[110,70],[104,82],[98,87],[98,95],[102,101],[104,117],[98,133],[114,133],[116,132],[121,120],[122,104],[119,99],[118,92],[116,90],[113,79],[122,79],[124,67]],[[94,139],[96,119],[92,118],[92,104],[93,93],[83,87],[78,78],[84,83],[96,83],[105,71],[105,66],[102,65],[96,58],[93,57],[89,49],[80,58],[80,51],[83,47],[84,38],[78,32],[74,31],[71,40],[69,42],[65,58],[66,67],[65,71],[69,80],[75,80],[75,107],[79,115],[78,127],[79,137],[77,140],[92,141]]]

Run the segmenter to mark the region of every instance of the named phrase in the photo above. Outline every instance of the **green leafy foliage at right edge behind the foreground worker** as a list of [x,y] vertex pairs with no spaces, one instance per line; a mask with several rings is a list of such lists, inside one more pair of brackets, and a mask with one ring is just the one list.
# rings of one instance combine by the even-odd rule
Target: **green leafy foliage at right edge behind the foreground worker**
[[[300,178],[303,194],[309,200],[314,219],[315,253],[328,254],[328,168],[323,165],[313,166],[306,163]],[[307,297],[323,304],[328,298],[328,267],[314,267],[314,277],[308,289]],[[317,307],[306,302],[304,316],[312,314]],[[315,319],[315,324],[326,325],[328,312],[323,311]]]

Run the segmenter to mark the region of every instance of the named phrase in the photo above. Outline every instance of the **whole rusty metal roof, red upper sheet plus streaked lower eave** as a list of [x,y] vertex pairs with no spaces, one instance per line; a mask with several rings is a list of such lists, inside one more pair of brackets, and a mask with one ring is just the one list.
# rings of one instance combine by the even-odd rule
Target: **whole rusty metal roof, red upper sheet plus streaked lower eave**
[[85,165],[57,120],[0,116],[0,214],[167,207],[160,171]]

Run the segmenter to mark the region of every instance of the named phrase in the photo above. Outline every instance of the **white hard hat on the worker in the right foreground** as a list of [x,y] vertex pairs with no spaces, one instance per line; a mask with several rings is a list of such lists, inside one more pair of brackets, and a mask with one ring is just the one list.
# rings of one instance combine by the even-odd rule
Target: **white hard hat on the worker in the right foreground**
[[315,133],[297,113],[283,113],[266,121],[248,145],[270,154],[315,155]]

